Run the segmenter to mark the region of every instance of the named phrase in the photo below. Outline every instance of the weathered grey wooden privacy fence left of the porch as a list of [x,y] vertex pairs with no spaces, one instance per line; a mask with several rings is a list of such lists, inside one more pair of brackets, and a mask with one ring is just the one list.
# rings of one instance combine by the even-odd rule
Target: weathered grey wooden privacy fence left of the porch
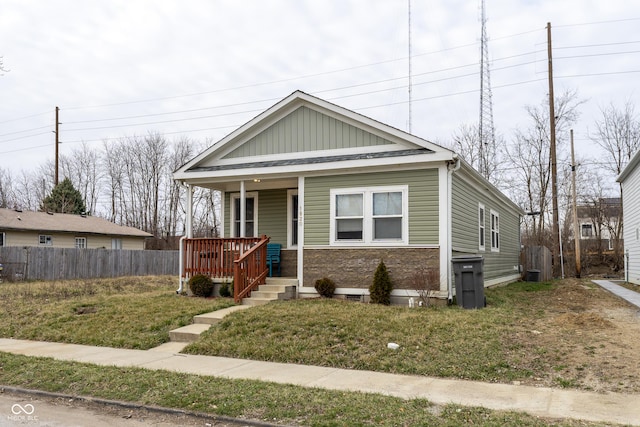
[[0,247],[6,280],[178,275],[178,251]]

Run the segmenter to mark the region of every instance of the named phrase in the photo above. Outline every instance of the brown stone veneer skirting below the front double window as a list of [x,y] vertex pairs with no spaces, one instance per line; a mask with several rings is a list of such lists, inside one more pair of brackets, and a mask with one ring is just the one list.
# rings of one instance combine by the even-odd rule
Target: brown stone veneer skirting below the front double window
[[328,277],[337,288],[368,289],[380,260],[394,289],[414,289],[412,276],[421,268],[440,276],[438,248],[327,248],[304,250],[304,286]]

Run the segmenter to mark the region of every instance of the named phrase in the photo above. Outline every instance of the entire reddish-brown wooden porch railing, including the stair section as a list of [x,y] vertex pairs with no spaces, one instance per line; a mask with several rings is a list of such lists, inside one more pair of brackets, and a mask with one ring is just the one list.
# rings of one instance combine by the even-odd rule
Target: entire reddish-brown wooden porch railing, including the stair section
[[184,239],[181,277],[196,274],[212,279],[233,278],[233,297],[237,303],[265,283],[269,238],[193,238]]

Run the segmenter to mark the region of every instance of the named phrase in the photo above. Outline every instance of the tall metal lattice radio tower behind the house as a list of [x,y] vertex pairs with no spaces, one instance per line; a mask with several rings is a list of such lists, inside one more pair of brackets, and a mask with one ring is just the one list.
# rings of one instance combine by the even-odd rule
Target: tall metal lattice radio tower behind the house
[[488,157],[495,147],[495,128],[493,126],[493,99],[491,96],[491,79],[489,77],[489,40],[487,37],[487,17],[484,0],[481,0],[480,20],[482,36],[480,38],[480,121],[478,124],[479,172],[489,179]]

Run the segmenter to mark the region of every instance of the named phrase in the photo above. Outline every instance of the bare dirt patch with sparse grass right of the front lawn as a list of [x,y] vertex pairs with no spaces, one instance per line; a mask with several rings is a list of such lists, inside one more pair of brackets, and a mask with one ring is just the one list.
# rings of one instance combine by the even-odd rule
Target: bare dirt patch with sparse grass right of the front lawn
[[[640,310],[595,284],[568,279],[523,307],[533,322],[506,337],[525,384],[640,393]],[[531,304],[531,300],[528,300]]]

